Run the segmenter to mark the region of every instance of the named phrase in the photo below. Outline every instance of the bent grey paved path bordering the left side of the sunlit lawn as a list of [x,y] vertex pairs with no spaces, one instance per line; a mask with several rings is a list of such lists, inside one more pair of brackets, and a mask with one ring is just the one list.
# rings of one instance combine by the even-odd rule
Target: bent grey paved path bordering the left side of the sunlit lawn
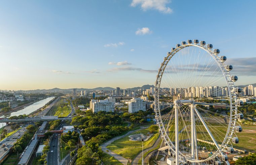
[[[118,160],[118,161],[121,162],[122,164],[127,165],[127,162],[128,162],[127,159],[125,159],[124,157],[122,157],[122,156],[120,156],[120,155],[114,153],[113,151],[107,149],[107,146],[110,145],[111,143],[113,143],[115,140],[121,139],[121,138],[123,138],[123,137],[125,137],[125,136],[127,136],[127,135],[129,135],[129,134],[131,134],[131,133],[133,133],[133,132],[136,132],[136,131],[139,131],[139,130],[142,130],[142,129],[146,129],[146,128],[148,128],[148,127],[149,127],[149,126],[146,126],[146,127],[142,127],[142,126],[141,126],[140,129],[131,130],[131,131],[125,133],[125,134],[122,135],[122,136],[116,136],[116,137],[110,139],[109,141],[103,143],[103,144],[101,145],[101,150],[102,150],[103,152],[107,153],[108,155],[113,156],[116,160]],[[108,150],[108,152],[107,152],[107,150]]]

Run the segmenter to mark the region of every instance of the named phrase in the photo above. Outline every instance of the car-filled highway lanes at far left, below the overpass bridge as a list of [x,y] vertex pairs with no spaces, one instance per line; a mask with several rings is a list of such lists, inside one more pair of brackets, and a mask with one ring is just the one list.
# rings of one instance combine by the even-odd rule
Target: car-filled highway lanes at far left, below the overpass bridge
[[[14,134],[6,137],[5,139],[3,139],[0,143],[1,143],[1,147],[0,147],[0,157],[6,152],[4,151],[4,147],[2,147],[3,144],[8,144],[8,146],[6,146],[8,149],[10,149],[14,143],[16,143],[17,139],[19,136],[21,136],[21,134],[24,134],[25,130],[23,130],[23,128],[26,127],[22,127],[22,129],[18,130],[17,132],[15,132]],[[20,135],[19,135],[20,134]],[[12,139],[12,138],[16,138],[17,139]],[[6,140],[6,141],[5,141]]]

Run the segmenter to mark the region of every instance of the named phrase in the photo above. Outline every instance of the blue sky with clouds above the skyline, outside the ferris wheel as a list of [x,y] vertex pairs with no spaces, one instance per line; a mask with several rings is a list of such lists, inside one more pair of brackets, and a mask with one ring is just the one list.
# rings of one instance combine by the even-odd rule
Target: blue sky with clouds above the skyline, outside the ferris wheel
[[213,44],[236,85],[256,83],[256,1],[2,0],[0,89],[154,84],[177,43]]

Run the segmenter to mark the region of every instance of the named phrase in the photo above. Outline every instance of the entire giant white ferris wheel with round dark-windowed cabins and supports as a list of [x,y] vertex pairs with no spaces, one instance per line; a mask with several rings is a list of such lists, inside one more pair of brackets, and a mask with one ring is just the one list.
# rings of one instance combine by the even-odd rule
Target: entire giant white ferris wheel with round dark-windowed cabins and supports
[[187,40],[163,58],[155,81],[155,118],[159,133],[178,164],[228,163],[239,143],[237,122],[244,116],[236,95],[241,88],[226,56],[205,41]]

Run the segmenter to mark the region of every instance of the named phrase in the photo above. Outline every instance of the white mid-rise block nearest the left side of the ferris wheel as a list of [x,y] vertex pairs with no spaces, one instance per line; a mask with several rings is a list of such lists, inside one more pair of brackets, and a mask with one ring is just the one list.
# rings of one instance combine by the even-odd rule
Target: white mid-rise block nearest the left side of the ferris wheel
[[128,102],[128,112],[146,111],[146,103],[141,98],[133,98]]

